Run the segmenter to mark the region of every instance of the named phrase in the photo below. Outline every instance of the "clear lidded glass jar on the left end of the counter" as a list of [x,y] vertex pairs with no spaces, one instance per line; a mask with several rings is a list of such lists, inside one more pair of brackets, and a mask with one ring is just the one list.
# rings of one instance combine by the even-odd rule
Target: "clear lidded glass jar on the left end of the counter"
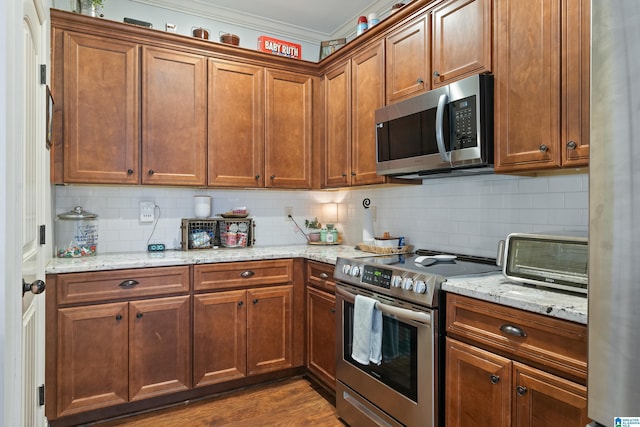
[[56,256],[80,258],[98,251],[98,215],[76,206],[56,221]]

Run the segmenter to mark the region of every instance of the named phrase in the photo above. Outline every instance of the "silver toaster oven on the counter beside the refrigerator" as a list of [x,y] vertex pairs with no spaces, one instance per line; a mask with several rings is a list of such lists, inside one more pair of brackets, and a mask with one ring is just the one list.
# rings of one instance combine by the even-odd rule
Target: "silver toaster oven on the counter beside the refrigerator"
[[511,233],[497,264],[509,280],[587,294],[588,252],[584,236]]

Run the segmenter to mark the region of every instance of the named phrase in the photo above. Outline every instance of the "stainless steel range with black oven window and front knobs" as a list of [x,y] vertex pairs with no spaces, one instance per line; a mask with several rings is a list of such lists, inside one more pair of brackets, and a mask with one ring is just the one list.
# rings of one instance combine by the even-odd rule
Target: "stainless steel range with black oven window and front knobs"
[[[338,258],[336,407],[352,426],[442,425],[440,285],[447,277],[499,271],[495,260],[406,255]],[[382,312],[382,362],[351,357],[356,295]]]

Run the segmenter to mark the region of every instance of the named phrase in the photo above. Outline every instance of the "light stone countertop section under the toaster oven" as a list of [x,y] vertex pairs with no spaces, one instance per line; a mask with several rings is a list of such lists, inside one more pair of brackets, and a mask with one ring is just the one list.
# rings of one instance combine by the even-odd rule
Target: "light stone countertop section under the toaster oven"
[[442,284],[442,290],[587,324],[585,296],[515,283],[502,273],[452,278]]

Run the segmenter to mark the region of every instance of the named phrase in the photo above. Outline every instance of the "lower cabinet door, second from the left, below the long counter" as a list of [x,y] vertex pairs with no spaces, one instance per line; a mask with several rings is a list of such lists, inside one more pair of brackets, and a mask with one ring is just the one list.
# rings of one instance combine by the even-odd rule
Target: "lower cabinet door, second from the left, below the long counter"
[[189,296],[129,303],[129,399],[191,387]]

